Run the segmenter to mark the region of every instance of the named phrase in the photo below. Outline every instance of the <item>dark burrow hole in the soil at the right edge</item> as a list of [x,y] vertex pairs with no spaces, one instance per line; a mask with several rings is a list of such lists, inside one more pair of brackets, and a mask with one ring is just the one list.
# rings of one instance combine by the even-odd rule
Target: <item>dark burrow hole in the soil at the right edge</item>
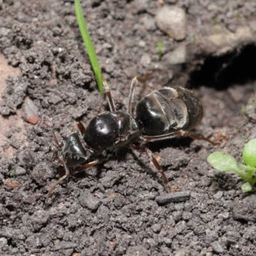
[[226,90],[232,84],[246,84],[256,80],[256,46],[247,45],[239,52],[210,57],[204,65],[191,72],[189,87],[214,87]]

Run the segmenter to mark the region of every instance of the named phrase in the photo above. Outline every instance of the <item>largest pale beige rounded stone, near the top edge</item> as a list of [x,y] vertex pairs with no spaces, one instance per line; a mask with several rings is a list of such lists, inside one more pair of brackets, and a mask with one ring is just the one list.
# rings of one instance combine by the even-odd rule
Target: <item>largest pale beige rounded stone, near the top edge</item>
[[186,38],[186,13],[177,6],[164,6],[156,13],[158,28],[175,40]]

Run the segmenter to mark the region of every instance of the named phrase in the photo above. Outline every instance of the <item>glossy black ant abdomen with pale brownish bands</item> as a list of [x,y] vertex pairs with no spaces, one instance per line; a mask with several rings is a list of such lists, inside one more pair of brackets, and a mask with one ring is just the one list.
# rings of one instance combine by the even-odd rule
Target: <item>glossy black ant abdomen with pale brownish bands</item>
[[136,121],[143,134],[161,135],[193,129],[202,114],[202,104],[193,92],[166,87],[154,90],[138,103]]

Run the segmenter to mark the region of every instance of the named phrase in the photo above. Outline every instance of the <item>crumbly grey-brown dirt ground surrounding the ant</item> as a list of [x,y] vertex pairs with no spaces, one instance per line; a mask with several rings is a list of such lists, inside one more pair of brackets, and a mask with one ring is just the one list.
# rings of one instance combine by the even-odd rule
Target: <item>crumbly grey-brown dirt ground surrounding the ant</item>
[[[216,150],[241,161],[244,143],[256,137],[255,1],[81,5],[116,108],[126,110],[132,78],[154,70],[147,87],[136,88],[134,104],[163,86],[191,88],[204,106],[195,132],[221,145],[188,138],[148,145],[170,183],[191,193],[184,202],[157,204],[169,193],[161,175],[146,155],[124,148],[64,180],[45,204],[64,170],[51,159],[49,129],[25,121],[24,101],[33,100],[60,141],[108,102],[97,90],[72,1],[0,1],[0,254],[256,255],[255,190],[243,193],[239,177],[206,161]],[[157,13],[173,6],[186,13],[181,39],[157,23]]]

